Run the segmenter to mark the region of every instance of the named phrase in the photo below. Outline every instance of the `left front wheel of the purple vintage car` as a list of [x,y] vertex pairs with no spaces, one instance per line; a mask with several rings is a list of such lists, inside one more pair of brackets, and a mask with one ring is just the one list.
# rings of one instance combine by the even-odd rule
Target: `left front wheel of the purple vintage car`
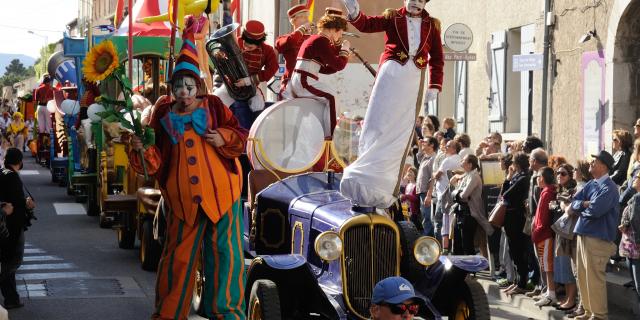
[[257,280],[251,287],[249,298],[249,320],[282,319],[278,287],[271,280]]

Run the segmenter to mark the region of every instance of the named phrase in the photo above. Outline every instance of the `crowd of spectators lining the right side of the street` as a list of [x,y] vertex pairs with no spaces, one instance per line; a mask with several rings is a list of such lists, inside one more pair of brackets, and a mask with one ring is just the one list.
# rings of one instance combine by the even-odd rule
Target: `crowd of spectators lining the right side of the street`
[[[525,294],[569,318],[607,318],[609,263],[627,260],[632,281],[626,286],[638,292],[640,119],[633,133],[613,131],[611,153],[574,164],[549,154],[535,136],[503,141],[493,132],[472,149],[452,118],[442,123],[431,115],[416,122],[401,200],[443,254],[487,257],[506,294]],[[497,197],[483,182],[485,163],[500,164]],[[492,225],[498,204],[506,208],[504,223]]]

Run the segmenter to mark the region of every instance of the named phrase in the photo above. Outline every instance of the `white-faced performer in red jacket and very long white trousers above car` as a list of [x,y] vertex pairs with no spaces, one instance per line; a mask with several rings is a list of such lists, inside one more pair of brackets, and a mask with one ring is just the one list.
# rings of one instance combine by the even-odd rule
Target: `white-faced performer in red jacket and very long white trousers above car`
[[424,9],[428,1],[405,0],[402,8],[367,16],[357,0],[343,0],[356,29],[384,31],[386,41],[360,136],[360,156],[345,169],[340,184],[342,194],[358,205],[388,208],[396,200],[423,95],[434,100],[442,88],[440,23]]

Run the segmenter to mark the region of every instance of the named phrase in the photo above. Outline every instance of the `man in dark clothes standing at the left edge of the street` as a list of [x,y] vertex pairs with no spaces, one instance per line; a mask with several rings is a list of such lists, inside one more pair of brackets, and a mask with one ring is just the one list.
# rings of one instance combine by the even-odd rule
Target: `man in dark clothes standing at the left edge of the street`
[[16,271],[24,256],[24,229],[28,223],[27,211],[35,203],[24,194],[18,171],[22,169],[22,151],[10,148],[4,159],[5,169],[0,172],[0,201],[13,206],[13,214],[7,216],[9,237],[0,240],[0,291],[4,296],[4,307],[20,308],[20,296],[16,288]]

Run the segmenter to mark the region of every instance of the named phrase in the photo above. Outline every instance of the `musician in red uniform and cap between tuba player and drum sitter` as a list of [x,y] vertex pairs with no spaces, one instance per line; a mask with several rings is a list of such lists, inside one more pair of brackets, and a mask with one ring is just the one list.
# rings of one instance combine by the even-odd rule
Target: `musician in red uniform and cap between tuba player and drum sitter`
[[302,43],[309,38],[312,31],[309,22],[309,9],[307,9],[306,5],[299,4],[292,7],[287,11],[287,16],[289,16],[289,22],[294,31],[279,36],[278,39],[276,39],[275,46],[276,50],[284,57],[286,66],[284,75],[280,81],[280,99],[291,99],[291,93],[286,92],[287,83],[296,66],[298,51]]

